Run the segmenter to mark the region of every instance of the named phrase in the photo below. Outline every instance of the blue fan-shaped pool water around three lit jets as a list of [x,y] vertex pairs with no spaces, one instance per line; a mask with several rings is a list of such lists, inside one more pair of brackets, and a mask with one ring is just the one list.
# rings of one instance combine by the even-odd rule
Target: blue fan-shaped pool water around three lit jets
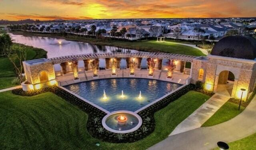
[[[181,84],[154,79],[114,78],[80,82],[64,87],[109,112],[134,112],[180,86]],[[103,98],[104,90],[106,99]],[[140,91],[141,99],[138,98]]]

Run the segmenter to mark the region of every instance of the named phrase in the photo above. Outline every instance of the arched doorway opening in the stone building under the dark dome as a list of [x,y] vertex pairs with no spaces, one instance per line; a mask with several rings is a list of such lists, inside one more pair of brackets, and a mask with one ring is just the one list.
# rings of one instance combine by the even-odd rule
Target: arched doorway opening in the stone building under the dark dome
[[235,76],[232,72],[228,70],[224,70],[220,72],[218,76],[216,93],[225,95],[225,96],[232,96],[234,81],[235,81]]

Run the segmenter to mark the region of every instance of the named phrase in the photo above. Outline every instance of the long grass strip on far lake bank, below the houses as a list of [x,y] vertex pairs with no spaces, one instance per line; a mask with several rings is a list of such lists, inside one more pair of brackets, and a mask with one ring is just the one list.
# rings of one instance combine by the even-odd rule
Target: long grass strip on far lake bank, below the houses
[[[135,50],[143,50],[148,52],[168,52],[173,54],[186,54],[192,56],[205,56],[200,50],[196,48],[192,48],[190,46],[184,46],[180,44],[171,44],[171,43],[163,43],[156,42],[156,40],[149,41],[138,41],[138,42],[125,42],[119,40],[106,40],[100,38],[86,38],[81,36],[59,36],[59,35],[51,35],[51,34],[40,34],[40,33],[31,33],[31,32],[12,32],[13,34],[22,34],[24,36],[47,36],[54,38],[63,38],[66,40],[72,41],[80,41],[80,42],[88,42],[94,45],[107,45],[107,46],[117,46],[122,48],[129,48]],[[184,42],[180,42],[184,43]]]

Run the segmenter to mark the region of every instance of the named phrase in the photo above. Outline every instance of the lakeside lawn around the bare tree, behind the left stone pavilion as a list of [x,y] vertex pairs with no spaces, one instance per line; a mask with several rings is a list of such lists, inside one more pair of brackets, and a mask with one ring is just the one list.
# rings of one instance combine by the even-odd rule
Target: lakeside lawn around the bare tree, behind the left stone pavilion
[[[43,49],[16,43],[13,44],[13,47],[25,49],[27,52],[26,60],[46,58],[47,52]],[[7,57],[0,57],[0,64],[0,89],[16,86],[16,84],[12,84],[12,80],[16,78],[12,62]],[[16,64],[19,66],[18,61],[16,61]]]

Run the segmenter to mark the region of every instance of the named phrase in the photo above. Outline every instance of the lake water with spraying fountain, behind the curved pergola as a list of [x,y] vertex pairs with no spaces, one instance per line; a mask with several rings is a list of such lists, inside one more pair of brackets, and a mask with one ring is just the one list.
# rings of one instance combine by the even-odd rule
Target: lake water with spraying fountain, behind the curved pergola
[[[78,54],[102,53],[102,52],[137,52],[136,50],[129,50],[125,48],[118,48],[114,46],[99,46],[92,45],[85,42],[68,41],[58,38],[40,37],[40,36],[22,36],[10,34],[14,42],[42,48],[47,51],[48,58],[70,56]],[[52,44],[58,43],[68,44]]]

